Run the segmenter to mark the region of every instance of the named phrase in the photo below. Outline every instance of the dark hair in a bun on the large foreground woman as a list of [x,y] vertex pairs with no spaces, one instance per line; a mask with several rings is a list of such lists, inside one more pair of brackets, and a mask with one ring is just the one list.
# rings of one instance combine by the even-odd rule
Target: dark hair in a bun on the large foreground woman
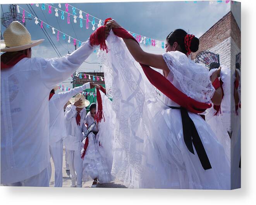
[[[185,30],[176,29],[176,30],[172,31],[166,37],[166,40],[167,40],[168,44],[170,44],[170,46],[172,46],[174,44],[174,42],[177,42],[181,49],[180,52],[187,54],[187,50],[186,50],[185,43],[184,43],[184,39],[185,39],[186,35],[187,35],[187,32]],[[197,37],[194,37],[191,40],[190,50],[192,52],[196,52],[196,51],[198,51],[198,47],[199,47],[199,39]]]

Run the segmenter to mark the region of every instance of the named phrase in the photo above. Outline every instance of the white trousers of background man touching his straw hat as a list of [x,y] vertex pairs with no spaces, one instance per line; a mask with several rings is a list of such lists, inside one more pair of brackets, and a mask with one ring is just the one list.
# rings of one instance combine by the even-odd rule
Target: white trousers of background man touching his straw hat
[[66,149],[67,161],[70,168],[70,178],[72,185],[82,187],[82,159],[81,150],[71,151]]

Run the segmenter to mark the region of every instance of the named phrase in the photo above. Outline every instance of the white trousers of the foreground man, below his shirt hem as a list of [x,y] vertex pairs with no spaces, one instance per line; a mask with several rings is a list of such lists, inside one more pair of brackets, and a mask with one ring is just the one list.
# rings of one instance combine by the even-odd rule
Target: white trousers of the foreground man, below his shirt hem
[[49,168],[45,168],[38,175],[32,176],[26,180],[15,183],[4,184],[4,186],[49,186]]

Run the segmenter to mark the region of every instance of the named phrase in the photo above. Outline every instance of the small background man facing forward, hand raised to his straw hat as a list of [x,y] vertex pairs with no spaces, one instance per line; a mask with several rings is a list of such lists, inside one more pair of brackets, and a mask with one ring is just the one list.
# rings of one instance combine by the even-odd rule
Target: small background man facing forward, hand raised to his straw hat
[[[71,187],[82,187],[82,132],[86,132],[86,109],[90,102],[81,93],[71,98],[66,107],[65,120],[68,136],[64,139],[67,160],[70,168]],[[80,102],[80,103],[79,103]]]

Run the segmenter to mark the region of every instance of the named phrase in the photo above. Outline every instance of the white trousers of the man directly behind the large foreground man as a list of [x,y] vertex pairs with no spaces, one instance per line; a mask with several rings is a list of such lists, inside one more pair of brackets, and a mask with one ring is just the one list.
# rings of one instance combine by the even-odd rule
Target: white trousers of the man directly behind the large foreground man
[[62,187],[63,140],[50,144],[50,154],[55,168],[54,186]]

